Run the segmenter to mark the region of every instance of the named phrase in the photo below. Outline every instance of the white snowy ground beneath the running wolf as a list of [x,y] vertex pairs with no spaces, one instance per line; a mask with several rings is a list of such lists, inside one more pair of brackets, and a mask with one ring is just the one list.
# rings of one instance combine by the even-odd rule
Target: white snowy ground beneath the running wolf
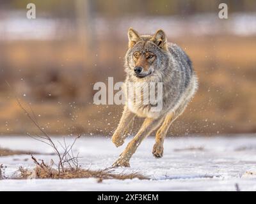
[[[54,138],[60,140],[61,138]],[[130,138],[131,139],[131,138]],[[67,138],[67,143],[72,142]],[[125,143],[125,145],[127,142]],[[51,147],[28,137],[0,137],[1,147],[51,153]],[[80,152],[84,168],[104,169],[115,161],[125,145],[116,148],[109,138],[80,138],[74,149]],[[151,180],[0,180],[0,191],[241,191],[256,190],[256,135],[225,137],[189,136],[168,138],[164,157],[156,159],[151,151],[154,138],[147,138],[131,159],[131,168],[116,171],[140,171]],[[49,161],[51,155],[36,155]],[[6,175],[19,166],[35,166],[28,155],[0,157]]]

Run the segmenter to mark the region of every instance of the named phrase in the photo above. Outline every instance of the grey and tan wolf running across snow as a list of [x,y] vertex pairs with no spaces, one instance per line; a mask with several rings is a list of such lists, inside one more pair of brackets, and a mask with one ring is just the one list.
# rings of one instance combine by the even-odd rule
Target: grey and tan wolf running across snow
[[[143,117],[145,120],[124,152],[113,163],[113,167],[129,167],[132,154],[142,140],[157,128],[152,154],[155,157],[162,157],[164,138],[170,125],[184,112],[198,87],[198,78],[188,55],[175,43],[169,43],[163,30],[159,29],[155,34],[148,35],[139,34],[129,28],[128,39],[128,50],[125,55],[125,106],[112,136],[112,142],[116,147],[124,143],[134,117]],[[134,98],[129,96],[129,87],[138,89],[136,82],[163,84],[161,110],[152,111],[156,106],[153,103],[138,105],[134,102]]]

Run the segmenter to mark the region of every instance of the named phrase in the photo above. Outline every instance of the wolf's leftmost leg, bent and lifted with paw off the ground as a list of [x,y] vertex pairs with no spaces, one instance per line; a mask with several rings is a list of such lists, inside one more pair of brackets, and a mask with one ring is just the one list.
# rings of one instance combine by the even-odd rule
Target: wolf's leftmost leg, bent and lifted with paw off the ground
[[124,143],[127,134],[125,132],[129,132],[129,124],[131,124],[134,119],[135,114],[132,113],[127,106],[124,106],[124,112],[116,128],[115,133],[112,136],[112,142],[116,145],[116,147],[121,146]]

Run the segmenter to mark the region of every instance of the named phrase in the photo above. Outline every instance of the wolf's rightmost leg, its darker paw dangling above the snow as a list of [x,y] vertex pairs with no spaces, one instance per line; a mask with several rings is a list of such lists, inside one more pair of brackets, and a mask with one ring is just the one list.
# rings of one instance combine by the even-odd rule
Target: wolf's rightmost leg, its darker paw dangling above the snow
[[173,112],[168,113],[168,115],[166,115],[163,124],[161,125],[161,127],[157,130],[156,133],[156,143],[154,144],[153,150],[152,150],[152,154],[159,158],[159,157],[163,157],[163,153],[164,153],[164,138],[168,132],[168,129],[170,128],[173,120],[175,120],[175,115]]

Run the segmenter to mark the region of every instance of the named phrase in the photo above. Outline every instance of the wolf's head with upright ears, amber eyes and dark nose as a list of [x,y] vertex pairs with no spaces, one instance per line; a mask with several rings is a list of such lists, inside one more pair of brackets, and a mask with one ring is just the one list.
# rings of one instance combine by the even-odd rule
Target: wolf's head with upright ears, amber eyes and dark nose
[[129,28],[129,49],[125,57],[126,71],[136,78],[157,75],[168,61],[168,42],[164,31],[154,35],[140,35]]

